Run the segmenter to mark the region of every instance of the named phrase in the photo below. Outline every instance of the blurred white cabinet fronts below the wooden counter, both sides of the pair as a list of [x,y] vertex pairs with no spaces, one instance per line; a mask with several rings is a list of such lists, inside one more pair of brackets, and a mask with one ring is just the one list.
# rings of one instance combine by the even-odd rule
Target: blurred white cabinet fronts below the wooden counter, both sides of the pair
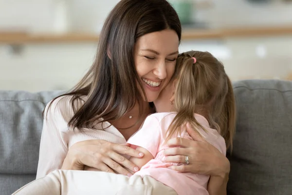
[[[26,45],[17,55],[0,46],[0,89],[69,89],[94,59],[96,44]],[[186,41],[180,51],[209,51],[225,65],[233,80],[286,78],[292,72],[292,36],[267,39]]]

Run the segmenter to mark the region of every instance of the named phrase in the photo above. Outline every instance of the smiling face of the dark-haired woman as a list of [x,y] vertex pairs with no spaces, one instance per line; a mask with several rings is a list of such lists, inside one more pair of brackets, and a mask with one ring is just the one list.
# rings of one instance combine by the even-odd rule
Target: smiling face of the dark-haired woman
[[135,66],[146,94],[146,101],[157,99],[172,77],[179,53],[178,47],[178,35],[169,29],[149,33],[137,40],[134,52]]

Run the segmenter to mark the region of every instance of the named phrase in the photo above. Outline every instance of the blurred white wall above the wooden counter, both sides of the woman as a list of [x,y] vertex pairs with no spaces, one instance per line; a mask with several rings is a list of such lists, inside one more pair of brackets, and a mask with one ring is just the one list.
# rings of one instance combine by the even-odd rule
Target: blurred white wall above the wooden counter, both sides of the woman
[[[210,1],[210,7],[194,4],[194,20],[209,27],[270,26],[292,24],[292,3],[250,3],[248,0]],[[99,31],[119,0],[0,0],[0,28],[32,32]],[[66,22],[66,23],[64,23]]]

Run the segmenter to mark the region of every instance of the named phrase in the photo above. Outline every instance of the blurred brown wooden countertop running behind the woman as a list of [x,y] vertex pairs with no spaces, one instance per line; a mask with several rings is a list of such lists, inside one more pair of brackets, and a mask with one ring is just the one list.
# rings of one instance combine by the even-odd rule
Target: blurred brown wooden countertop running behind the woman
[[[182,39],[226,39],[230,37],[265,37],[281,35],[292,35],[292,26],[233,29],[183,29]],[[0,44],[97,42],[98,39],[99,35],[95,34],[0,33]]]

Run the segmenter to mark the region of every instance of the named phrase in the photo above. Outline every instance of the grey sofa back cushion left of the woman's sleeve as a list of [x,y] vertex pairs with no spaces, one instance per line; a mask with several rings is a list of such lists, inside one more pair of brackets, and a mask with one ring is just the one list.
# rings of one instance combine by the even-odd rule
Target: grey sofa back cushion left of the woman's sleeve
[[42,111],[60,93],[0,91],[1,195],[36,178]]

